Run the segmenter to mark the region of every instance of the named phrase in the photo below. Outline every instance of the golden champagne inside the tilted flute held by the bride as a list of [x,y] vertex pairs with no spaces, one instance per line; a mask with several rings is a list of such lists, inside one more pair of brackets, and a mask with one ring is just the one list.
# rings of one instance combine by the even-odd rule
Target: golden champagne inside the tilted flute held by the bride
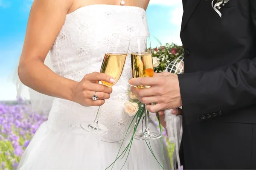
[[102,84],[112,87],[121,77],[127,54],[105,54],[100,72],[115,79],[114,83],[102,81]]

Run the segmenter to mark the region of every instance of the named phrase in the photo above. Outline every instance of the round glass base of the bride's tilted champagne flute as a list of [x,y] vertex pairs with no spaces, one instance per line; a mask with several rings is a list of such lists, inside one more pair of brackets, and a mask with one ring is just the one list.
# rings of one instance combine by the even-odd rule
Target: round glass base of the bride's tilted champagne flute
[[108,133],[108,129],[104,125],[101,125],[99,123],[84,121],[84,122],[81,122],[80,126],[85,131],[93,134],[105,135]]

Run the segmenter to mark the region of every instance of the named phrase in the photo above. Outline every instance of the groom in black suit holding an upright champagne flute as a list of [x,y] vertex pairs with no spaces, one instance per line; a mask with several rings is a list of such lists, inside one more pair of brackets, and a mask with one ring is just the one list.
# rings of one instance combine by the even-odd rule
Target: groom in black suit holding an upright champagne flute
[[183,0],[185,74],[131,79],[151,86],[132,92],[151,112],[183,107],[184,168],[256,169],[256,0],[230,0],[222,17],[211,3]]

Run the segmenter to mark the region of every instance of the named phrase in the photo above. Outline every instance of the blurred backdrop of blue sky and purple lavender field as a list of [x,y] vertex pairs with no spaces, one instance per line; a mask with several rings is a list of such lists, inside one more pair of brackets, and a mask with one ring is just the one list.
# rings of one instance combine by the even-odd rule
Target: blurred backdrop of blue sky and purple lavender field
[[[15,169],[23,150],[47,116],[22,116],[28,111],[22,99],[16,98],[12,82],[17,67],[26,24],[33,0],[0,0],[0,169]],[[183,14],[181,0],[151,0],[148,25],[152,48],[166,43],[182,45],[180,26]],[[23,94],[29,100],[28,93]],[[11,116],[10,116],[11,115]]]

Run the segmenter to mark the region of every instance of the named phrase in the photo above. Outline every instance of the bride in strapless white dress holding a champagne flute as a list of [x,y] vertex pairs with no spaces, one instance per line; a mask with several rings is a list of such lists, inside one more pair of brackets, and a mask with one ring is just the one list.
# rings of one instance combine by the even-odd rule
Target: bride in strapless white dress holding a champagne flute
[[[104,4],[108,3],[108,4]],[[116,158],[130,117],[128,101],[131,61],[126,60],[119,82],[112,88],[98,84],[114,80],[99,73],[102,51],[113,33],[148,36],[145,9],[149,0],[34,0],[29,16],[18,74],[26,86],[53,96],[52,108],[26,148],[18,169],[105,169]],[[51,57],[52,69],[44,64]],[[98,100],[92,96],[97,91]],[[105,104],[104,104],[105,103]],[[104,105],[103,105],[104,104]],[[81,129],[93,121],[102,106],[99,122],[108,128],[104,136]],[[150,123],[154,131],[157,128]],[[162,162],[160,139],[151,142]],[[164,148],[165,167],[170,168]],[[118,160],[120,169],[125,158]],[[134,140],[123,169],[160,169],[145,142]]]

